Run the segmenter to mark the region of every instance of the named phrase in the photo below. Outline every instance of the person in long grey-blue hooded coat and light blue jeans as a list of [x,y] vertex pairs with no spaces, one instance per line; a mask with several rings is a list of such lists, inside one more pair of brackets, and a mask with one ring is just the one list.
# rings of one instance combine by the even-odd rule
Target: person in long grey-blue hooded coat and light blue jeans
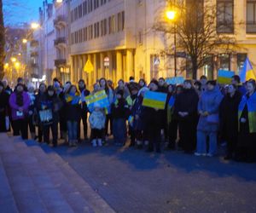
[[[223,99],[216,81],[207,82],[207,90],[202,93],[198,103],[200,114],[197,125],[197,146],[195,156],[212,157],[217,153],[218,113],[219,105]],[[209,137],[209,150],[207,152],[207,137]]]

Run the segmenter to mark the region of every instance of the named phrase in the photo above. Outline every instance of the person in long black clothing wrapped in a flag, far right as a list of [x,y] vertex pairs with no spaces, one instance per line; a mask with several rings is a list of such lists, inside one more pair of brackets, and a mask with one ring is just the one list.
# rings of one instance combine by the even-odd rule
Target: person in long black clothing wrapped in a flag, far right
[[247,94],[242,96],[238,107],[238,142],[236,160],[252,163],[256,161],[256,83],[247,82]]

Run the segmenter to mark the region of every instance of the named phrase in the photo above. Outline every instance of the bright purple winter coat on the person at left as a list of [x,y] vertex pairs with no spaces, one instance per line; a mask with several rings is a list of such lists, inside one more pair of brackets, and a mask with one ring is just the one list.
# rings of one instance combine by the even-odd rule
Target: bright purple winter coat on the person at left
[[[17,98],[17,92],[14,92],[12,95],[9,97],[9,106],[11,107],[11,116],[13,120],[19,120],[19,119],[24,119],[26,118],[26,114],[28,111],[28,107],[30,106],[30,98],[29,95],[25,91],[22,92],[23,96],[23,105],[18,106],[16,103],[16,98]],[[19,108],[23,108],[23,113],[21,116],[18,116],[17,112],[19,112]]]

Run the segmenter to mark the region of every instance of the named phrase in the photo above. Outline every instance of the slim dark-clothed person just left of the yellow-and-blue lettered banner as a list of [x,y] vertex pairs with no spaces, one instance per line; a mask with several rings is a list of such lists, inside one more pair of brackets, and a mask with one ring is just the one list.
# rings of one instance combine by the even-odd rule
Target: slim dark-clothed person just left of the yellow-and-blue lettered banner
[[79,92],[81,94],[81,103],[80,103],[80,116],[78,121],[78,141],[81,142],[81,120],[83,122],[83,130],[84,130],[84,140],[87,140],[87,132],[88,132],[88,107],[85,102],[85,97],[90,95],[90,91],[86,89],[86,85],[83,79],[79,80]]

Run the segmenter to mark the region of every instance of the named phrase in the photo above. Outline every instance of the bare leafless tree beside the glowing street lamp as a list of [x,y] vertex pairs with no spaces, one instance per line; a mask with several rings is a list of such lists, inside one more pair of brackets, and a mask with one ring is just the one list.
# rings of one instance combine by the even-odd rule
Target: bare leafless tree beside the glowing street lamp
[[[184,51],[191,61],[192,76],[197,78],[199,68],[207,63],[207,56],[218,52],[230,53],[236,49],[236,39],[232,35],[218,33],[216,5],[207,0],[166,0],[170,9],[176,12],[176,19],[168,22],[165,13],[160,13],[154,29],[164,32],[166,36],[176,33],[176,50]],[[223,25],[227,23],[222,23]],[[221,25],[218,23],[218,27]],[[234,30],[233,25],[231,31]],[[173,51],[167,48],[166,54]]]

